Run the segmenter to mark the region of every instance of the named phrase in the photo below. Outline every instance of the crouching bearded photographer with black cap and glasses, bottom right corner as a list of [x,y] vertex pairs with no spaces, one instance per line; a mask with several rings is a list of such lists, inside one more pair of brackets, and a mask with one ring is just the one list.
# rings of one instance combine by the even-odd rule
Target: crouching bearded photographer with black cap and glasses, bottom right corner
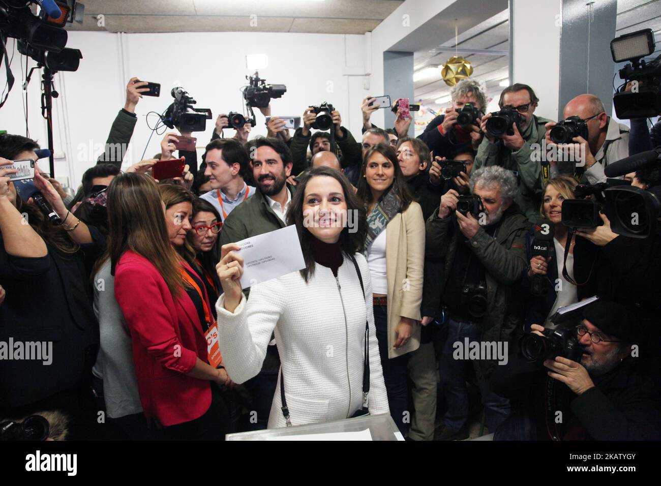
[[[632,356],[631,316],[622,305],[600,300],[586,306],[582,317],[572,331],[580,358],[556,356],[541,366],[515,352],[506,366],[496,367],[490,384],[512,398],[513,410],[494,440],[661,438],[658,388]],[[532,328],[543,336],[543,327]]]

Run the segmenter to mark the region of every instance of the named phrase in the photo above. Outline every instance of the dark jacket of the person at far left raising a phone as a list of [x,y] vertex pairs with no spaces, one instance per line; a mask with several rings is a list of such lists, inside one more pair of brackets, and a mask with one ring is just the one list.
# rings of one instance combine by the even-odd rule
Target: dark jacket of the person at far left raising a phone
[[97,358],[98,322],[92,309],[91,268],[105,239],[89,227],[93,242],[73,255],[49,243],[48,255],[13,257],[0,235],[0,280],[7,299],[0,305],[0,341],[52,342],[52,363],[1,360],[0,405],[17,407],[81,387]]

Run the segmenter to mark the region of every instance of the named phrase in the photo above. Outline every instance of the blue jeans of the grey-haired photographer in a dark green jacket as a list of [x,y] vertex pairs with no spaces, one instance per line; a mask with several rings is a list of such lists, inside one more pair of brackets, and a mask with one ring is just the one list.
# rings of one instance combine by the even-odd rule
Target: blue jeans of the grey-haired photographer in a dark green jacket
[[[447,404],[444,422],[448,428],[456,432],[468,420],[468,391],[466,388],[466,361],[455,360],[452,357],[455,352],[453,344],[459,341],[463,345],[466,337],[471,343],[479,342],[482,331],[478,324],[461,323],[453,319],[448,319],[447,327],[447,337],[441,352],[439,370]],[[490,432],[494,432],[509,417],[510,401],[489,389],[487,381],[477,370],[477,364],[477,361],[473,361],[482,404],[485,406],[486,426]]]

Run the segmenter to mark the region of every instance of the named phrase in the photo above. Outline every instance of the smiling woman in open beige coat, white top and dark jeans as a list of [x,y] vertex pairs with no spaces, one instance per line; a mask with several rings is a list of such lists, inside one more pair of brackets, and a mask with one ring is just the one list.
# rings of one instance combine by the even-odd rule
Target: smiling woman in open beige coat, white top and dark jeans
[[405,433],[408,353],[420,346],[424,218],[389,145],[375,145],[364,155],[358,196],[368,212],[365,251],[383,379],[390,414]]

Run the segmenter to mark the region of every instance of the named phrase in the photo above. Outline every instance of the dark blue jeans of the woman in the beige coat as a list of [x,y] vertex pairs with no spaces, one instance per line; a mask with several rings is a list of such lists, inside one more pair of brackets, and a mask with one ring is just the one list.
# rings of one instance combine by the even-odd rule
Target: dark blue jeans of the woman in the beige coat
[[388,358],[388,313],[385,305],[374,306],[374,326],[379,341],[379,356],[390,415],[399,431],[405,434],[410,426],[410,413],[407,414],[407,422],[404,422],[405,412],[408,411],[408,353],[397,358]]

